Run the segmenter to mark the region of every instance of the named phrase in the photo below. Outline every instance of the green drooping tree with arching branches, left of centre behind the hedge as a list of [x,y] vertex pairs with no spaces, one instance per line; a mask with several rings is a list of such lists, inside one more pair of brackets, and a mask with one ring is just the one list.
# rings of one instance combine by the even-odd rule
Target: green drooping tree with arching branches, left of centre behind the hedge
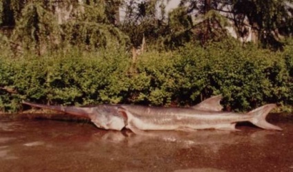
[[86,50],[126,45],[127,36],[108,21],[103,3],[89,1],[82,7],[83,12],[79,12],[75,19],[62,24],[66,43]]

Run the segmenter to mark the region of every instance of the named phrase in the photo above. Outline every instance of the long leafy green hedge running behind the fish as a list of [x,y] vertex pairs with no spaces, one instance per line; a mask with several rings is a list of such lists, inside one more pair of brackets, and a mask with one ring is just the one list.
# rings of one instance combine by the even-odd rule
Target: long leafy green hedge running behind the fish
[[[55,52],[46,56],[0,55],[0,111],[21,109],[21,100],[62,105],[135,103],[194,105],[223,94],[227,109],[293,103],[293,45],[283,52],[233,42],[173,52],[149,51],[131,70],[124,50]],[[292,108],[291,108],[292,109]]]

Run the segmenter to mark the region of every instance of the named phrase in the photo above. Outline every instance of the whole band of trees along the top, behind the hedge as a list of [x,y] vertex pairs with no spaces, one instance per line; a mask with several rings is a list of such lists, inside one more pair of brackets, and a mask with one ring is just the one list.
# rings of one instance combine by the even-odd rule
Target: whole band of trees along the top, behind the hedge
[[[38,54],[68,45],[85,50],[139,47],[143,39],[147,45],[167,49],[192,41],[205,46],[229,37],[227,27],[234,28],[238,39],[251,32],[254,43],[278,50],[293,32],[292,0],[181,0],[169,13],[167,3],[1,0],[0,28],[18,50]],[[126,14],[120,22],[121,9]]]

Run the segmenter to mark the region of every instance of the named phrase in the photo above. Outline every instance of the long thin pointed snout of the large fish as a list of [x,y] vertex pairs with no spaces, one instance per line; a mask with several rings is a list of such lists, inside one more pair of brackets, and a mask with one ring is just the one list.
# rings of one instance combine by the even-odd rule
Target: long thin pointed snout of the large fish
[[23,101],[22,103],[24,105],[30,105],[31,107],[39,107],[39,108],[50,109],[54,111],[61,111],[73,116],[82,116],[82,117],[89,118],[88,111],[90,111],[90,108],[86,108],[86,107],[63,107],[63,106],[41,105],[41,104],[29,103],[25,101]]

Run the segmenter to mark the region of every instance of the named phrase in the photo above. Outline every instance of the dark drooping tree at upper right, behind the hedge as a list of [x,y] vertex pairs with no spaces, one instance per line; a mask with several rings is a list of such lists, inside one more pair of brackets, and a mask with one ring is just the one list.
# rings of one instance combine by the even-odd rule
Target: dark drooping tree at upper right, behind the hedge
[[[193,32],[202,45],[207,40],[217,41],[227,36],[226,27],[236,28],[239,37],[246,36],[252,28],[253,40],[264,47],[282,47],[281,35],[290,36],[293,28],[292,0],[181,0],[177,16],[189,26],[181,32]],[[185,10],[185,12],[182,12]],[[174,13],[176,11],[173,11]],[[189,15],[188,17],[184,17]],[[186,19],[186,20],[184,20]],[[189,32],[189,33],[192,33]]]

